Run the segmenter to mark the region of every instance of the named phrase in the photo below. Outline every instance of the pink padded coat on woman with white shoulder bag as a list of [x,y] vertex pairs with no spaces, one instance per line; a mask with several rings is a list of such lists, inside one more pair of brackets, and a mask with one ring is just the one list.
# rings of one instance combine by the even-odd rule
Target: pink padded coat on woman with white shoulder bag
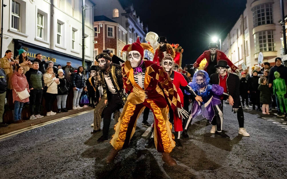
[[14,72],[11,77],[11,82],[13,86],[13,90],[12,90],[13,103],[15,101],[20,101],[21,103],[29,102],[29,98],[21,100],[16,93],[16,91],[17,92],[24,91],[25,88],[27,88],[28,92],[30,93],[29,84],[26,79],[26,76],[24,74],[19,74],[18,72]]

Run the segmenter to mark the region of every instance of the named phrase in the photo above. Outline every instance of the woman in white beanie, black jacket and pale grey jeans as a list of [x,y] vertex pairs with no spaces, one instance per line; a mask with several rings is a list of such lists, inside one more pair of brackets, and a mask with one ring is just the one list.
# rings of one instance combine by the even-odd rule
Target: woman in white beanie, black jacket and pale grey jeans
[[[63,69],[58,70],[58,76],[60,84],[58,84],[58,94],[57,94],[57,107],[58,113],[67,112],[66,101],[69,93],[70,83],[69,80],[64,76]],[[62,104],[62,108],[61,108]]]

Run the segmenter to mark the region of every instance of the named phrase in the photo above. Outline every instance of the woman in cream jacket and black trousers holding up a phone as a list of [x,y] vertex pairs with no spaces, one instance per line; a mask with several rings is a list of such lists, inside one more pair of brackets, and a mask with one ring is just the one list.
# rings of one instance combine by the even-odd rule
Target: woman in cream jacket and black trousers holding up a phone
[[43,75],[45,86],[48,86],[46,94],[44,94],[46,101],[47,116],[55,115],[52,111],[52,104],[58,94],[58,84],[60,84],[59,78],[56,78],[56,74],[53,72],[53,67],[48,66],[46,73]]

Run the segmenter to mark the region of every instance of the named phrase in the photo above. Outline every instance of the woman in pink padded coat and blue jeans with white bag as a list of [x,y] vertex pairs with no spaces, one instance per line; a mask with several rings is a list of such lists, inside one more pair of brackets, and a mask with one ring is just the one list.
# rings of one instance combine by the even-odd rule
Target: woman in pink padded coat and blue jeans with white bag
[[16,71],[13,73],[11,77],[12,83],[12,95],[13,95],[13,103],[14,103],[14,119],[13,123],[22,123],[25,122],[21,118],[21,112],[24,103],[29,102],[29,98],[21,100],[16,92],[24,91],[27,88],[28,92],[30,93],[29,84],[26,79],[26,76],[23,74],[24,69],[22,66],[18,66]]

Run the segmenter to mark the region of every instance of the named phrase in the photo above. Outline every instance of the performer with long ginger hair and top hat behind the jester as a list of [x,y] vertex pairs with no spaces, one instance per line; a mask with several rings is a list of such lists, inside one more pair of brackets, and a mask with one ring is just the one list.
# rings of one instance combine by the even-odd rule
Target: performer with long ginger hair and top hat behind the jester
[[158,46],[158,48],[156,49],[156,53],[153,60],[154,62],[158,62],[158,64],[160,64],[166,54],[170,54],[171,57],[174,58],[175,51],[172,46],[168,44],[165,37],[159,37],[158,43],[160,44],[160,46]]

